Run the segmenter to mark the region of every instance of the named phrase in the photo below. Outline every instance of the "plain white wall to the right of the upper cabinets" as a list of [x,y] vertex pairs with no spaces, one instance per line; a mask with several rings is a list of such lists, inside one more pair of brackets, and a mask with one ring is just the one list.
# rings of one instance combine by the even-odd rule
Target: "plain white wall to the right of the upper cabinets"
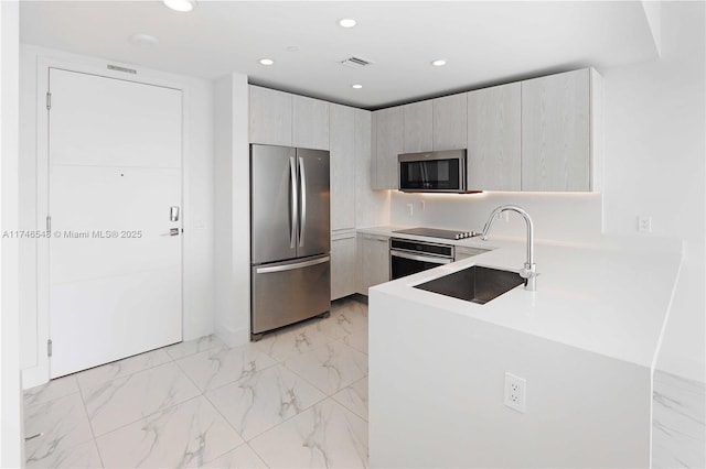
[[706,381],[706,24],[704,2],[662,2],[660,61],[601,70],[606,231],[684,239],[684,264],[657,368]]

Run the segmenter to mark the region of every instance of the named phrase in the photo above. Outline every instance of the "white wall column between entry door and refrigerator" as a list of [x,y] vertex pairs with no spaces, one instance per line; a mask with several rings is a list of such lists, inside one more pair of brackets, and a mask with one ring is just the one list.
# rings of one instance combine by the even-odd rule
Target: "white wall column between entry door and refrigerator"
[[215,331],[227,345],[250,339],[250,171],[247,77],[215,83]]

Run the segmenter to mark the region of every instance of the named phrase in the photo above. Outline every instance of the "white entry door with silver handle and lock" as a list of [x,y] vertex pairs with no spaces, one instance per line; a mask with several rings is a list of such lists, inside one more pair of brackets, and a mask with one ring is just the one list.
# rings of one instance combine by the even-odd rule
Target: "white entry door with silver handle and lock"
[[182,338],[182,101],[180,90],[57,68],[50,91],[56,378]]

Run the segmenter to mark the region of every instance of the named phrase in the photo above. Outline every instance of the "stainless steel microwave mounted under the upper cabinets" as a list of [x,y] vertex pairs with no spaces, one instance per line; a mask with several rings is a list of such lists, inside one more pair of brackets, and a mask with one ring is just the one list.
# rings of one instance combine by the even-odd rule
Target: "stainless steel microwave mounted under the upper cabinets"
[[406,193],[467,193],[466,150],[397,155],[398,187]]

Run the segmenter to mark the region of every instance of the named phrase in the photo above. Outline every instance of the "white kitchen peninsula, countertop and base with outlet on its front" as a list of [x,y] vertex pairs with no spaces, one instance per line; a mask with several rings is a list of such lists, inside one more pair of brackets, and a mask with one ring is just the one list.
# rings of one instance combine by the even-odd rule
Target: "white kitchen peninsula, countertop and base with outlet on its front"
[[[681,242],[535,241],[536,292],[480,305],[414,285],[471,265],[517,272],[524,239],[403,237],[492,251],[370,290],[373,467],[649,466]],[[524,414],[503,405],[506,372],[526,380]]]

